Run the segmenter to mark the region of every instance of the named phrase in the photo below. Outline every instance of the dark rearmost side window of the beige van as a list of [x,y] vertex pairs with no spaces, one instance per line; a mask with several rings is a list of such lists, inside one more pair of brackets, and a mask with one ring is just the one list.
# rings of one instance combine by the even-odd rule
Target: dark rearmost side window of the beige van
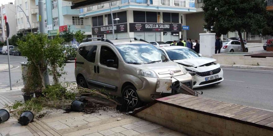
[[88,62],[95,63],[96,60],[96,45],[83,46],[79,48],[79,54]]

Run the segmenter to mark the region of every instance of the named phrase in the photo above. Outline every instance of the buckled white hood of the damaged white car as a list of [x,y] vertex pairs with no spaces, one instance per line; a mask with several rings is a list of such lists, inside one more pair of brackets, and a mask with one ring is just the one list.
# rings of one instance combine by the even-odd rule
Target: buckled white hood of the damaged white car
[[181,63],[186,66],[198,67],[205,65],[207,63],[215,62],[216,59],[207,58],[207,57],[194,57],[189,59],[174,60],[173,62]]

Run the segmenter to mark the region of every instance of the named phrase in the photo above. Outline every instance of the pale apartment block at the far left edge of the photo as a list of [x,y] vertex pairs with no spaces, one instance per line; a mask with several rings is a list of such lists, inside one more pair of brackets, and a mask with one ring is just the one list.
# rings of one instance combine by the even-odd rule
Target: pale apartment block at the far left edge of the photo
[[[7,16],[7,22],[9,23],[9,37],[11,37],[12,35],[15,35],[17,33],[16,27],[16,15],[15,15],[15,5],[11,2],[5,5],[2,5],[1,7],[1,14],[0,16],[3,17],[6,15]],[[1,20],[2,20],[1,19]],[[2,28],[2,24],[1,24],[1,28],[2,28],[2,39],[6,40],[7,39],[7,29],[6,29],[6,24],[4,22],[3,23],[3,28]],[[4,31],[4,32],[3,32]],[[5,35],[3,35],[3,33],[5,33]],[[1,34],[0,34],[1,36]]]

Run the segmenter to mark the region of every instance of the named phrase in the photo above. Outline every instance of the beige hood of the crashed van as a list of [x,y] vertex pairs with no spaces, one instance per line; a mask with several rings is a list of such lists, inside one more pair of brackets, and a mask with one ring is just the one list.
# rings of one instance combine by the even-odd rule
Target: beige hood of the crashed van
[[[159,78],[186,74],[183,72],[179,64],[171,62],[171,61],[151,63],[151,64],[141,64],[141,65],[132,65],[132,64],[129,64],[129,65],[136,68],[145,68],[145,69],[153,70]],[[170,72],[171,70],[174,71],[173,74],[171,74]]]

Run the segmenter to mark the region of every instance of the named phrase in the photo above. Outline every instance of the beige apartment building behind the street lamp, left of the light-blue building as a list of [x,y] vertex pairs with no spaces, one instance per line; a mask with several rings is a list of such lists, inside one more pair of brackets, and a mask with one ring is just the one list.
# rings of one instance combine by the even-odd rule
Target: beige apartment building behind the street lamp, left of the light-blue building
[[32,28],[32,32],[38,32],[39,21],[37,16],[39,10],[35,0],[15,0],[15,5],[17,31],[26,34],[26,32],[31,32],[30,28]]

